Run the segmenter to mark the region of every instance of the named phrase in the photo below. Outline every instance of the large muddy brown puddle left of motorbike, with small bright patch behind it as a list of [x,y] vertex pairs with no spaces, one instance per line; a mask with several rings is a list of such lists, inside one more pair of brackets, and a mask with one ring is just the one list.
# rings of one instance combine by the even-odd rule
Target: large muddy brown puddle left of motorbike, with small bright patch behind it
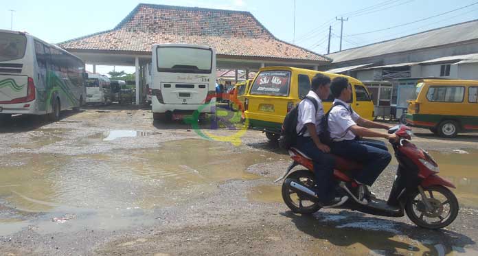
[[[89,139],[147,136],[113,135]],[[108,154],[8,154],[0,159],[0,235],[19,231],[32,215],[45,218],[38,224],[45,232],[56,229],[56,220],[104,229],[144,223],[139,216],[148,211],[194,200],[225,181],[260,178],[247,167],[280,157],[203,139]]]

